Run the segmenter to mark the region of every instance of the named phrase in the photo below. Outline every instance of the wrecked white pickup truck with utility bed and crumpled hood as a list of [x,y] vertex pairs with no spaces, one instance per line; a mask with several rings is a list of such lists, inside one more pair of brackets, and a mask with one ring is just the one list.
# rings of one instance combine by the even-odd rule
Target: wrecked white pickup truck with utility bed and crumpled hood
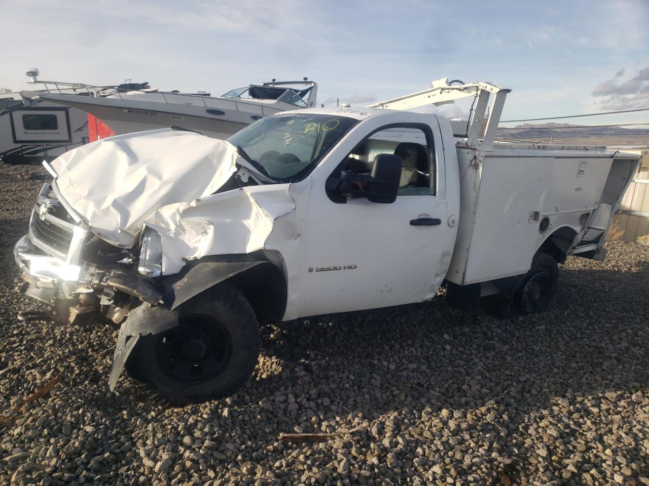
[[[227,141],[170,128],[67,152],[45,164],[53,181],[15,246],[19,288],[49,318],[120,324],[110,388],[127,367],[177,402],[234,393],[267,320],[426,301],[443,284],[463,308],[539,312],[557,263],[604,257],[638,160],[495,143],[508,92],[439,80]],[[406,111],[467,96],[468,122]]]

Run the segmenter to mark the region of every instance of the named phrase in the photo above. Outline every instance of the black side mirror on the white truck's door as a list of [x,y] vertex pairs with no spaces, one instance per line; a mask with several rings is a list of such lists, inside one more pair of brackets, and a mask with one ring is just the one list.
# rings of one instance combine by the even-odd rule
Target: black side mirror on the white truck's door
[[337,190],[341,194],[365,197],[369,202],[393,203],[397,199],[402,165],[399,156],[379,154],[369,175],[343,170]]

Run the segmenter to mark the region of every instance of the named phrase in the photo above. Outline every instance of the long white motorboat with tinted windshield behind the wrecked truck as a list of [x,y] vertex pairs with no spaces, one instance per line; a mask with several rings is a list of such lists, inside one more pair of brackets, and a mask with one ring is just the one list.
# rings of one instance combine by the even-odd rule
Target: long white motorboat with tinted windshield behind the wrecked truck
[[49,91],[23,92],[23,96],[87,111],[117,135],[177,126],[225,139],[266,115],[315,107],[317,84],[307,78],[272,80],[232,89],[221,97],[175,91],[97,93],[90,97]]

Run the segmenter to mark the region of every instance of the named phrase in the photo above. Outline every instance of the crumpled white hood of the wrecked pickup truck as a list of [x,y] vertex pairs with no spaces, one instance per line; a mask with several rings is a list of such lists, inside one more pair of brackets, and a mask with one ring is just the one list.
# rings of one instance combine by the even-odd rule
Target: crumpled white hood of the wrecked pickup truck
[[51,166],[61,196],[93,233],[131,248],[147,216],[217,191],[238,157],[227,141],[165,128],[80,146]]

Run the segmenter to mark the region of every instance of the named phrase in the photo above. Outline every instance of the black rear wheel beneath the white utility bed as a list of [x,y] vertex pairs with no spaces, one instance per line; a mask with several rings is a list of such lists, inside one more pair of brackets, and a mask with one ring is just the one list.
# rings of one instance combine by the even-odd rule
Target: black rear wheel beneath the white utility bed
[[554,258],[539,251],[532,259],[527,273],[513,277],[509,295],[485,297],[485,305],[500,317],[526,316],[543,312],[557,289],[559,266]]

